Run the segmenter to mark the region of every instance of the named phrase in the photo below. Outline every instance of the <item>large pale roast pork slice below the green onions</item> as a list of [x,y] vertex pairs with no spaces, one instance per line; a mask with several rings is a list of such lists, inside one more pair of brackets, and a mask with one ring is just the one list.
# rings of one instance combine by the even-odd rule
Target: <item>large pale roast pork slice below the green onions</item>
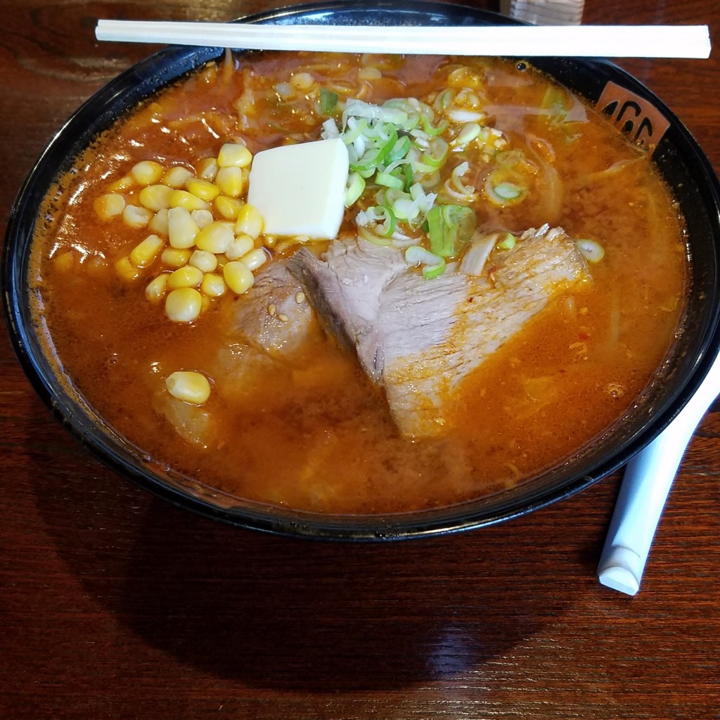
[[289,269],[382,384],[397,428],[414,438],[444,434],[462,380],[553,297],[590,279],[575,241],[548,225],[492,256],[492,279],[451,264],[425,280],[400,251],[367,244],[336,240],[323,259],[302,250]]

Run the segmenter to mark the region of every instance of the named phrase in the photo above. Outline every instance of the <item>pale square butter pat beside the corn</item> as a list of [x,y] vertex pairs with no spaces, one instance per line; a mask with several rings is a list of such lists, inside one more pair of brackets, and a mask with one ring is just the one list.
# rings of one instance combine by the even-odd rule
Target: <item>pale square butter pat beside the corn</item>
[[348,149],[340,138],[257,153],[248,204],[262,215],[264,233],[336,238],[345,212],[348,166]]

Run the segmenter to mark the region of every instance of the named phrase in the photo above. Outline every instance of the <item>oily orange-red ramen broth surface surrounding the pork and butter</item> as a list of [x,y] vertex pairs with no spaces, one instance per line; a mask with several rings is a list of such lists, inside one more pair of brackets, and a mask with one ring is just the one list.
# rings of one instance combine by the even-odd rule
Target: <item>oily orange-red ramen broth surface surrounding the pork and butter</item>
[[[375,106],[398,98],[431,108],[431,131],[447,143],[436,175],[432,163],[425,168],[423,192],[471,207],[475,238],[497,233],[498,247],[482,269],[488,282],[500,253],[521,242],[528,228],[548,223],[591,241],[589,279],[552,297],[469,374],[445,399],[442,432],[430,438],[401,436],[382,387],[322,323],[313,320],[292,352],[268,354],[253,346],[235,318],[238,307],[246,307],[239,304],[253,302],[255,288],[241,292],[240,285],[233,292],[225,283],[215,297],[222,292],[222,266],[230,262],[222,252],[210,253],[214,270],[207,269],[212,258],[198,256],[209,263],[201,272],[220,279],[215,287],[221,289],[205,292],[204,284],[189,280],[202,297],[198,317],[168,318],[166,282],[188,263],[190,250],[180,248],[175,258],[165,253],[178,250],[164,234],[168,194],[155,206],[147,194],[140,197],[143,187],[163,178],[176,189],[190,174],[216,187],[223,176],[228,183],[234,178],[242,189],[225,185],[220,192],[233,202],[211,197],[209,186],[194,189],[195,197],[206,198],[197,207],[237,234],[248,166],[217,176],[224,145],[246,145],[254,156],[319,140],[331,117],[343,131],[348,100]],[[461,132],[472,138],[459,139]],[[433,145],[441,154],[439,147]],[[136,177],[141,161],[158,166],[141,165]],[[464,162],[467,169],[453,177]],[[168,179],[168,168],[189,172]],[[387,186],[368,179],[345,211],[341,239],[358,235],[356,216],[382,204],[379,190]],[[192,217],[198,226],[208,221],[204,213]],[[245,253],[265,248],[256,276],[303,245],[318,256],[328,246],[270,237],[251,227],[253,217],[246,220],[248,232],[239,233],[245,243],[251,238]],[[382,220],[381,212],[364,232],[392,244]],[[423,236],[423,228],[410,229]],[[158,246],[148,251],[150,259],[138,260],[133,248],[149,235],[160,238]],[[598,248],[604,251],[599,260]],[[678,209],[647,153],[532,68],[310,53],[226,55],[121,118],[48,199],[33,263],[49,352],[109,426],[162,469],[242,498],[320,513],[457,503],[531,479],[577,454],[636,402],[662,365],[687,279]],[[308,298],[298,292],[294,301],[305,306]],[[247,307],[281,314],[267,302]],[[207,400],[176,400],[166,384],[176,371],[206,377]],[[441,366],[437,373],[439,383]]]

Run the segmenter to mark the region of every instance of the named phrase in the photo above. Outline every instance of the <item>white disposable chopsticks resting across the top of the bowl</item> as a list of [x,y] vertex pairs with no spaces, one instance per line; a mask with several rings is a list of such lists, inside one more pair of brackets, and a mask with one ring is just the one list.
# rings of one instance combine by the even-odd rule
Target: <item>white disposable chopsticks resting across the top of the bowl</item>
[[98,40],[243,50],[414,55],[708,58],[707,25],[276,25],[99,20]]

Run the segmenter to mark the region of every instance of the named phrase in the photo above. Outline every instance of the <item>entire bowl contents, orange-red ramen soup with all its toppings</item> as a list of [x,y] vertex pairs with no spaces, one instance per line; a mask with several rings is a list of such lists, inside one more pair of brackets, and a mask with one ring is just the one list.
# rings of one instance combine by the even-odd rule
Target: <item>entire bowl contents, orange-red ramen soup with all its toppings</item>
[[[339,229],[270,232],[288,180],[329,203],[338,175],[282,154],[252,204],[258,153],[314,142],[346,158]],[[388,513],[531,482],[611,427],[672,347],[685,263],[647,150],[525,63],[256,53],[99,138],[31,277],[69,382],[159,467]]]

